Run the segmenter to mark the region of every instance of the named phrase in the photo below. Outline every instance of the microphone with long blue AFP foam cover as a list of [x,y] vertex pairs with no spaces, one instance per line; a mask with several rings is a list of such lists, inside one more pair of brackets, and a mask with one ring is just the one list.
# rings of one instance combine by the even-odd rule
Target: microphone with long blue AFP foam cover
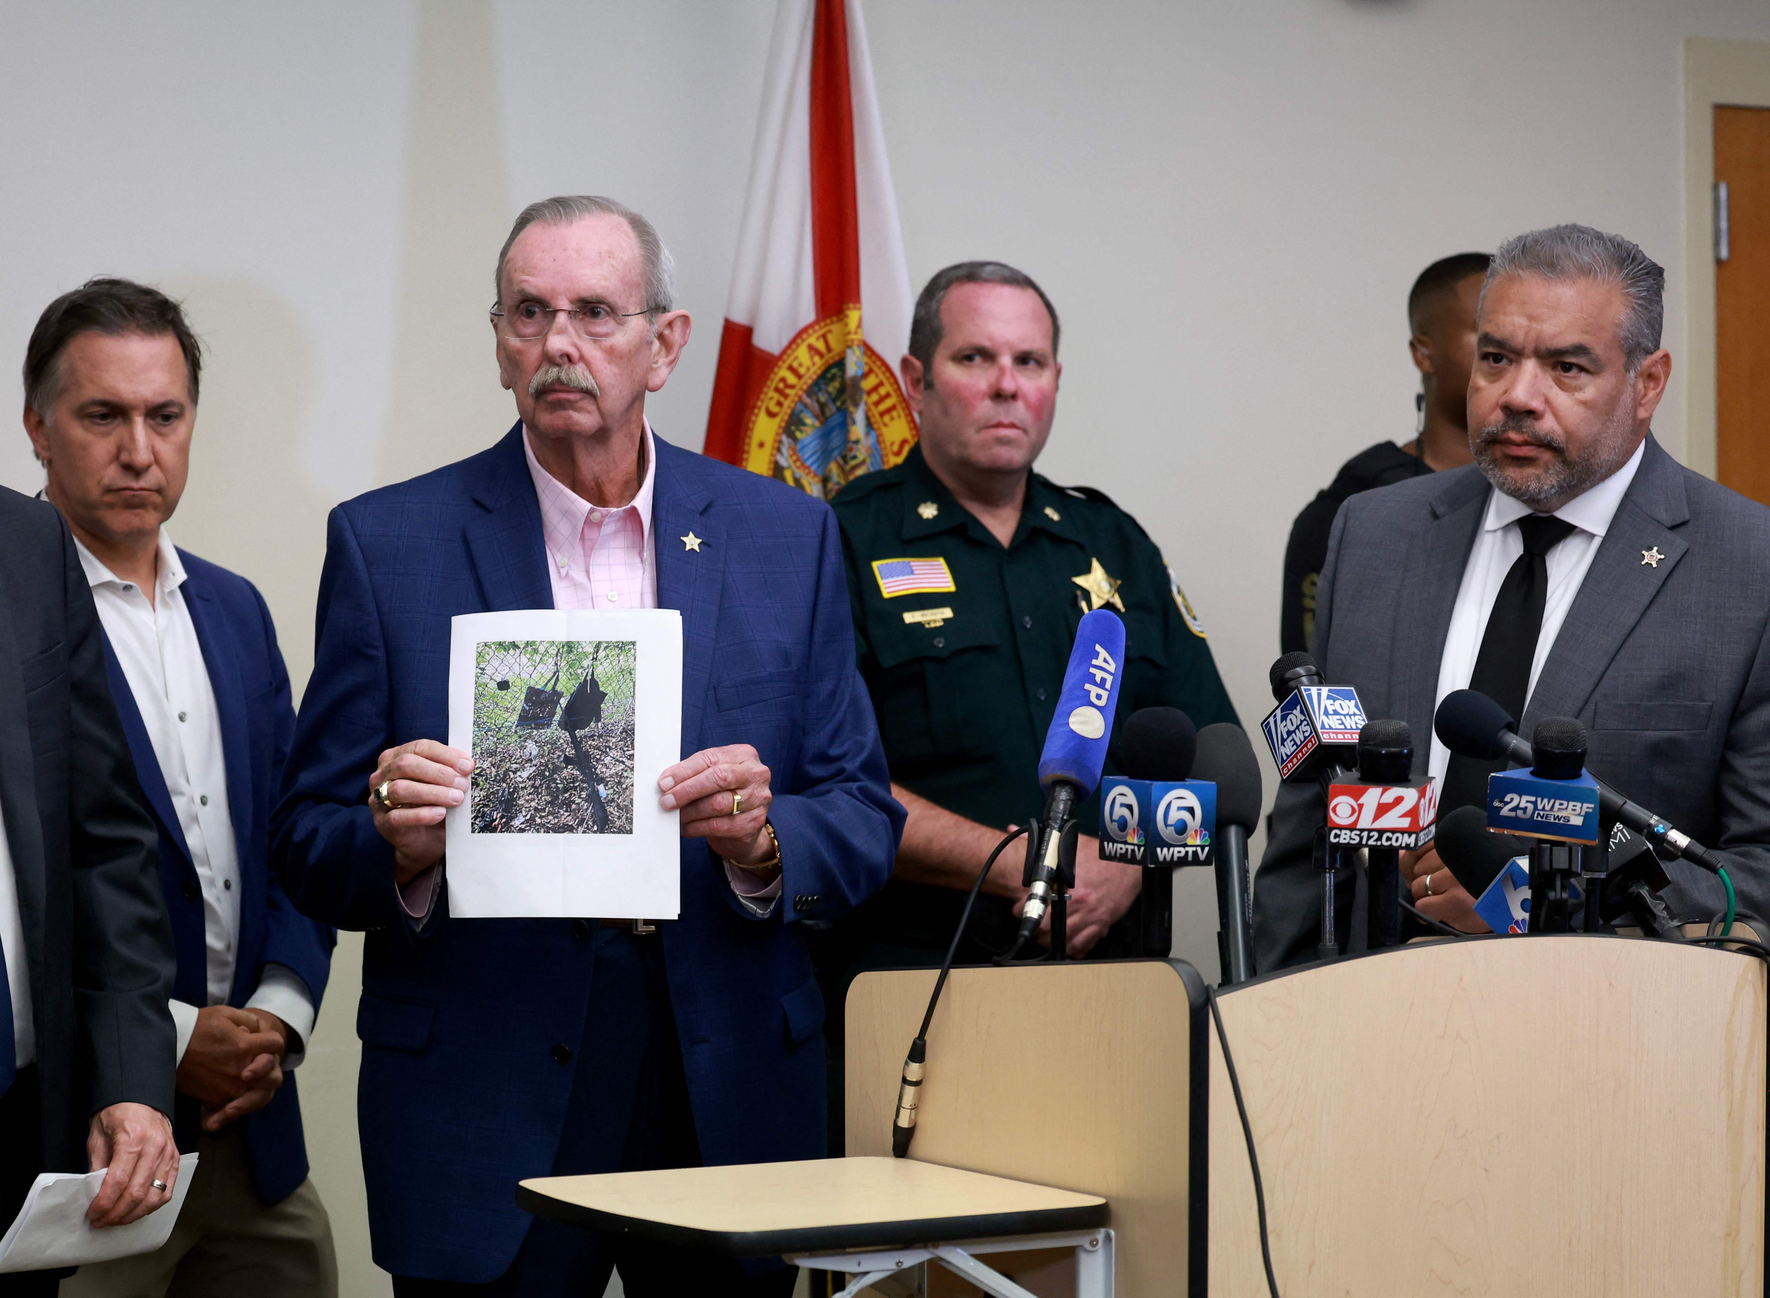
[[[1076,804],[1099,784],[1112,742],[1112,719],[1119,703],[1119,664],[1124,659],[1124,623],[1115,613],[1094,609],[1081,614],[1076,643],[1069,650],[1057,714],[1039,754],[1039,788],[1044,813],[1027,836],[1027,905],[1021,910],[1016,951],[1039,930],[1051,908],[1053,891],[1073,878],[1076,862]],[[1064,935],[1053,916],[1051,954],[1064,958]]]

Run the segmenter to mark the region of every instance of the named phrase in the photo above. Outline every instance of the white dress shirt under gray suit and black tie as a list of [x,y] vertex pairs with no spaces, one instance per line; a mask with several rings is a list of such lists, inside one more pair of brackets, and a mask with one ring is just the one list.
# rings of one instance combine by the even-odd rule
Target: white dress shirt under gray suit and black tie
[[[1561,623],[1566,622],[1566,611],[1574,607],[1574,599],[1586,581],[1591,560],[1598,554],[1604,533],[1611,529],[1611,519],[1616,517],[1616,510],[1623,503],[1623,492],[1635,480],[1635,469],[1641,467],[1644,452],[1646,441],[1643,439],[1623,467],[1554,512],[1554,517],[1572,522],[1574,531],[1545,556],[1549,595],[1543,600],[1543,623],[1536,634],[1536,657],[1531,659],[1531,680],[1524,692],[1526,703],[1529,703],[1529,696],[1536,691],[1536,676],[1542,675],[1543,662],[1549,661],[1549,650],[1554,648],[1556,636],[1561,634]],[[1492,487],[1489,489],[1487,514],[1481,519],[1481,531],[1474,538],[1474,547],[1469,551],[1469,563],[1462,570],[1462,586],[1457,588],[1457,606],[1450,614],[1450,634],[1444,636],[1444,653],[1439,657],[1437,698],[1432,703],[1434,714],[1446,694],[1469,689],[1469,680],[1474,676],[1474,659],[1481,653],[1481,637],[1487,634],[1487,616],[1494,609],[1494,600],[1499,597],[1499,588],[1506,581],[1506,574],[1524,552],[1524,535],[1519,531],[1519,519],[1528,514],[1531,514],[1529,505],[1512,499],[1512,496]],[[1443,781],[1448,765],[1450,749],[1434,733],[1427,774]]]

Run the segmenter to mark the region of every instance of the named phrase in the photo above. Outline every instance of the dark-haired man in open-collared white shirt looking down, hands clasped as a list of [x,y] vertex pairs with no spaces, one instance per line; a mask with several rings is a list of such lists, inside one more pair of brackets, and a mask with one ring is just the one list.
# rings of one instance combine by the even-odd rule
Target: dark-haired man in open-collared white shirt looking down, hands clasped
[[308,1181],[294,1066],[333,933],[269,873],[271,802],[296,726],[269,609],[251,583],[173,547],[202,352],[175,301],[92,280],[42,312],[25,427],[69,522],[104,664],[159,831],[179,953],[175,1133],[200,1151],[163,1248],[81,1268],[62,1298],[338,1291]]

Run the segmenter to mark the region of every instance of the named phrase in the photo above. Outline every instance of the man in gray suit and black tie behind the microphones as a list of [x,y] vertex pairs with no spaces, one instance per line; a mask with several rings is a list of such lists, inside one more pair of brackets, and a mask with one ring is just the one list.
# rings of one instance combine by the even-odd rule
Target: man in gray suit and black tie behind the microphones
[[[1480,689],[1520,717],[1577,717],[1588,767],[1728,854],[1740,912],[1770,916],[1770,510],[1682,467],[1650,425],[1671,377],[1664,271],[1579,225],[1506,243],[1481,289],[1469,381],[1474,464],[1352,496],[1335,519],[1313,652],[1370,717],[1412,728],[1439,815],[1492,767],[1432,735]],[[1430,742],[1428,742],[1430,740]],[[1255,880],[1255,954],[1313,958],[1320,790],[1287,784]],[[1414,905],[1485,931],[1437,854],[1402,866]],[[1687,917],[1720,884],[1667,866]],[[1352,887],[1336,887],[1351,912]],[[1349,931],[1343,914],[1340,933]]]

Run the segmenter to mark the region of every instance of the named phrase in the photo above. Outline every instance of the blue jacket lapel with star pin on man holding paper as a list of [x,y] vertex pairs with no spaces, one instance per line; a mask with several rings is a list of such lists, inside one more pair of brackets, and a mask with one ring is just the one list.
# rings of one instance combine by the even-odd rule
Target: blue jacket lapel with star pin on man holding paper
[[[681,751],[689,754],[699,747],[729,556],[726,535],[706,515],[713,492],[697,464],[701,457],[662,437],[653,437],[651,444],[658,457],[651,485],[651,549],[658,565],[658,607],[681,613]],[[690,533],[701,538],[692,551],[683,542]]]

